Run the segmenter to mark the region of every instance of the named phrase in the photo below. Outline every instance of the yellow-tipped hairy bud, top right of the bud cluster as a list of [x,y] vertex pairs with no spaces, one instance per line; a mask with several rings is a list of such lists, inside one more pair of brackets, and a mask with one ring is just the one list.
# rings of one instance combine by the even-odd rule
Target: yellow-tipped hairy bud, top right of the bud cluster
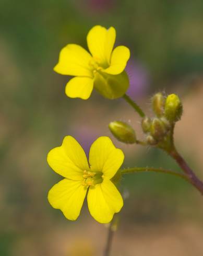
[[183,106],[180,98],[177,95],[171,94],[166,98],[164,113],[166,119],[168,119],[170,122],[177,122],[181,119]]

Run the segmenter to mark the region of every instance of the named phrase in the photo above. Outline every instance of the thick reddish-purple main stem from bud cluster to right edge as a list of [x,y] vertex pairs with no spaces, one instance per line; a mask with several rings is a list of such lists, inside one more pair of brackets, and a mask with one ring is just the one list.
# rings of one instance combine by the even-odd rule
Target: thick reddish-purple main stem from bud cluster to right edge
[[203,182],[197,178],[195,173],[192,169],[187,165],[184,158],[177,152],[177,150],[174,148],[169,152],[170,156],[173,157],[177,164],[181,167],[181,169],[185,172],[187,175],[189,182],[194,185],[196,189],[200,191],[200,193],[203,195]]

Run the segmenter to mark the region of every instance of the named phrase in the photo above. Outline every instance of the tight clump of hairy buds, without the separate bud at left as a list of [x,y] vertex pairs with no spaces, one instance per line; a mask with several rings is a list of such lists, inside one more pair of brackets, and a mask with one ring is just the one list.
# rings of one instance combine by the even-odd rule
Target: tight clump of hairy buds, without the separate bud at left
[[152,97],[151,104],[156,117],[145,117],[142,130],[147,134],[147,144],[157,145],[173,132],[175,122],[181,119],[183,107],[177,95],[171,94],[165,98],[161,92]]

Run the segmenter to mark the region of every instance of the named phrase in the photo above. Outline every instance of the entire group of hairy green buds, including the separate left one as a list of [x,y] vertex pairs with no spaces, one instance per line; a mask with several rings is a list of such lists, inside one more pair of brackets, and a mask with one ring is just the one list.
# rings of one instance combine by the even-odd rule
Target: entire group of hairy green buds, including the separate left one
[[142,131],[146,134],[146,141],[137,141],[133,127],[122,121],[114,121],[109,124],[109,129],[118,139],[126,144],[141,143],[144,145],[162,146],[167,144],[173,134],[174,124],[181,119],[183,107],[177,95],[167,97],[158,92],[152,97],[151,105],[155,114],[154,118],[142,119]]

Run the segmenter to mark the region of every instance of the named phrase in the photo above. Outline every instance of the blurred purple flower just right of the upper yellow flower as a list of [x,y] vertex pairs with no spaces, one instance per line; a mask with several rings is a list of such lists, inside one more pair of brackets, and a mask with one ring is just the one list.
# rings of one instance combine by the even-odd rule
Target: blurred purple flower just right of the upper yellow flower
[[149,87],[147,69],[140,63],[130,59],[125,68],[129,76],[129,89],[127,94],[133,98],[144,96]]

